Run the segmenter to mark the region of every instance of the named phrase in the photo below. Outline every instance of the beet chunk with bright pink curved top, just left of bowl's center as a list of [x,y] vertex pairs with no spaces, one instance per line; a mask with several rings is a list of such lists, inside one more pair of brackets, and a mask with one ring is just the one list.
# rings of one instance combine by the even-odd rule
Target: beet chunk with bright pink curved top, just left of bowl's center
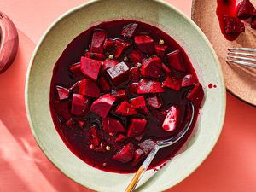
[[90,107],[90,112],[96,113],[100,115],[102,118],[107,117],[110,108],[115,101],[114,96],[110,96],[109,94],[105,94],[100,98],[96,99]]

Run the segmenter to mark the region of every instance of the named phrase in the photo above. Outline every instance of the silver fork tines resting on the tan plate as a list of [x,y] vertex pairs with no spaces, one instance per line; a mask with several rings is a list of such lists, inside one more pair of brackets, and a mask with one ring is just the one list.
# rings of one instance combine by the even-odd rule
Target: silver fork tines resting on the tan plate
[[256,68],[256,49],[252,48],[230,48],[228,49],[226,62],[241,66]]

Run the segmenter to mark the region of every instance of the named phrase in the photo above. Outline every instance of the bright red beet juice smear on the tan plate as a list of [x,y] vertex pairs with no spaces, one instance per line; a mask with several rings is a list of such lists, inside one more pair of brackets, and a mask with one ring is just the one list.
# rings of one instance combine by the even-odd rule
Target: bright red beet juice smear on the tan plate
[[216,9],[216,14],[218,16],[219,26],[224,37],[229,41],[234,41],[239,35],[227,35],[224,26],[224,15],[236,16],[236,0],[217,0],[218,6]]

